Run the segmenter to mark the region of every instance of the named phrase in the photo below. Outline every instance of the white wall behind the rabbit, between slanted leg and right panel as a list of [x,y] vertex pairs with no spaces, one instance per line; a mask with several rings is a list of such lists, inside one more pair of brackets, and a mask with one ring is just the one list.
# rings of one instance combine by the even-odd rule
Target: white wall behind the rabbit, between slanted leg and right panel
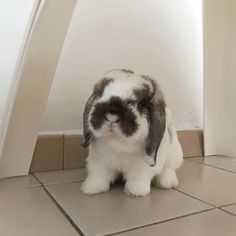
[[113,68],[156,78],[177,128],[202,128],[201,0],[79,0],[41,130],[81,129],[94,81]]

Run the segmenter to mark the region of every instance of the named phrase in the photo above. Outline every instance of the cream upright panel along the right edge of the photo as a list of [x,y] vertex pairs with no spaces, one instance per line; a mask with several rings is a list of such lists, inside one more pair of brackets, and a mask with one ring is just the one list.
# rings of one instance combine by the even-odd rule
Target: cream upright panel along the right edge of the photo
[[236,157],[236,1],[204,5],[206,155]]

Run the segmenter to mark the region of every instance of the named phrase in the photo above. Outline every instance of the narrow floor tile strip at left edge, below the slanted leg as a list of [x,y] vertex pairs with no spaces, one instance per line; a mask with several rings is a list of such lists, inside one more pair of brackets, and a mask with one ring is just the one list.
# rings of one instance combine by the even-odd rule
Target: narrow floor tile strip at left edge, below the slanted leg
[[12,177],[0,179],[0,188],[2,187],[33,187],[39,186],[40,183],[32,176],[21,176],[21,177]]

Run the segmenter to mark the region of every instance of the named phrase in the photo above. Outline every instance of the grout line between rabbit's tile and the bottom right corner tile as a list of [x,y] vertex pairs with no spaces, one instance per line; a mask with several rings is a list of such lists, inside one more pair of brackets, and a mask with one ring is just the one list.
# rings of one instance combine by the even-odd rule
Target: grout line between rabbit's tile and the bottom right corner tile
[[193,212],[193,213],[189,213],[189,214],[182,215],[182,216],[177,216],[177,217],[174,217],[174,218],[170,218],[170,219],[162,220],[162,221],[159,221],[159,222],[142,225],[142,226],[139,226],[139,227],[134,227],[134,228],[131,228],[131,229],[122,230],[122,231],[115,232],[115,233],[105,234],[104,236],[116,235],[116,234],[120,234],[120,233],[124,233],[124,232],[129,232],[129,231],[133,231],[133,230],[137,230],[137,229],[146,228],[146,227],[153,226],[153,225],[159,225],[161,223],[169,222],[169,221],[172,221],[172,220],[177,220],[177,219],[180,219],[180,218],[185,218],[185,217],[192,216],[192,215],[197,215],[197,214],[207,212],[207,211],[212,211],[212,210],[214,210],[214,208],[205,209],[205,210],[202,210],[202,211]]

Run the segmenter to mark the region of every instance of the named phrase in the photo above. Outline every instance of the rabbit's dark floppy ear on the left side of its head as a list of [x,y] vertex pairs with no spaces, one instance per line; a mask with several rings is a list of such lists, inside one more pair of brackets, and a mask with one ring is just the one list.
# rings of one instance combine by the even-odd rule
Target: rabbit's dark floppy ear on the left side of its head
[[103,78],[97,84],[95,84],[93,93],[89,97],[83,115],[83,129],[84,129],[84,140],[82,146],[88,147],[94,139],[93,133],[89,128],[89,114],[93,107],[94,102],[103,95],[105,87],[113,81],[112,78]]

